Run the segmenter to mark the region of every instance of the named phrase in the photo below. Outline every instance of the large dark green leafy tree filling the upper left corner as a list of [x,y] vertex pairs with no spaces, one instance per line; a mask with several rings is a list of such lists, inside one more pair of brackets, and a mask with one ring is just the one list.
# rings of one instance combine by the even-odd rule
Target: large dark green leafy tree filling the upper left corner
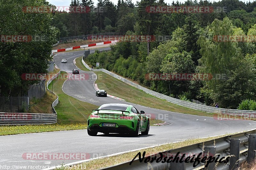
[[[49,5],[44,0],[0,1],[0,35],[30,35],[31,41],[0,42],[0,96],[26,95],[28,86],[38,81],[21,79],[24,73],[47,73],[57,30],[51,26],[52,14],[24,13],[23,6]],[[39,38],[36,39],[36,36]]]

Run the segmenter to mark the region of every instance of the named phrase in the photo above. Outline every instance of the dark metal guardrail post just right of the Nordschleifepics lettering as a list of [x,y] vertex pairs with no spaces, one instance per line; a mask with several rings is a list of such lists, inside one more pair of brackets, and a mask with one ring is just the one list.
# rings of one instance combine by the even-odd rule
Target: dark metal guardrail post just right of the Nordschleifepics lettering
[[239,167],[240,139],[230,139],[230,165],[229,169],[237,169]]

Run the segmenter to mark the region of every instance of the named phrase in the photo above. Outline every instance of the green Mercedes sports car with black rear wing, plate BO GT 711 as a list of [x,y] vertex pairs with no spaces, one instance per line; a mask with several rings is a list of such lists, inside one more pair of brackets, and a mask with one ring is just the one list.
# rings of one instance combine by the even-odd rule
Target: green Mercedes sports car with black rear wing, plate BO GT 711
[[128,104],[103,104],[99,109],[92,110],[88,117],[88,135],[96,136],[98,132],[128,133],[132,136],[147,135],[149,118],[145,112],[139,111]]

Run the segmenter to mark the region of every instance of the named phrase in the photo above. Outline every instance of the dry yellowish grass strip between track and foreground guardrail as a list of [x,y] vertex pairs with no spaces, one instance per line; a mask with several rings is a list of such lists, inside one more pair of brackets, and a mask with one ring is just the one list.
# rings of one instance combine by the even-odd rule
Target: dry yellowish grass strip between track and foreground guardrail
[[149,155],[149,154],[164,152],[167,150],[176,149],[176,148],[180,148],[180,147],[184,147],[184,146],[188,146],[188,145],[193,145],[196,143],[205,142],[205,141],[216,139],[216,138],[221,138],[221,137],[228,136],[228,135],[231,135],[231,134],[220,135],[217,137],[215,136],[215,137],[208,137],[208,138],[188,139],[188,140],[181,141],[181,142],[164,144],[164,145],[147,148],[147,149],[141,149],[138,151],[128,152],[128,153],[124,153],[124,154],[120,154],[120,155],[116,155],[116,156],[94,159],[94,160],[82,163],[82,166],[73,166],[72,168],[67,167],[64,169],[79,169],[79,168],[84,168],[84,167],[86,167],[87,170],[99,169],[99,168],[103,168],[103,167],[116,165],[116,164],[119,164],[122,162],[131,161],[137,155],[138,152],[143,153],[145,151],[146,155]]

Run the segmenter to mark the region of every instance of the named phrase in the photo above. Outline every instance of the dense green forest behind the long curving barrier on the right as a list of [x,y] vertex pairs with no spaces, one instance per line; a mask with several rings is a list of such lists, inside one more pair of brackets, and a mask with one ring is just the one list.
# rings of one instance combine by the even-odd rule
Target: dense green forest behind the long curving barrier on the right
[[[91,54],[86,60],[93,65],[100,62],[101,68],[138,81],[157,92],[183,100],[195,99],[212,106],[219,103],[220,107],[230,109],[236,109],[243,100],[255,100],[255,40],[254,42],[217,42],[214,36],[255,36],[256,2],[245,4],[238,0],[222,0],[214,3],[187,1],[181,4],[177,1],[170,4],[208,5],[213,8],[225,6],[226,12],[148,13],[145,11],[147,6],[165,5],[168,4],[163,1],[142,0],[129,7],[128,2],[121,2],[120,7],[116,9],[116,17],[108,17],[111,19],[111,31],[122,32],[125,35],[171,37],[164,42],[150,42],[149,55],[147,42],[120,41],[115,46],[111,46],[111,51]],[[92,23],[99,32],[100,30],[106,32],[107,25],[103,24],[100,29],[100,23]],[[210,81],[149,81],[145,78],[148,73],[207,73],[213,77],[217,74],[225,75],[225,78]]]

